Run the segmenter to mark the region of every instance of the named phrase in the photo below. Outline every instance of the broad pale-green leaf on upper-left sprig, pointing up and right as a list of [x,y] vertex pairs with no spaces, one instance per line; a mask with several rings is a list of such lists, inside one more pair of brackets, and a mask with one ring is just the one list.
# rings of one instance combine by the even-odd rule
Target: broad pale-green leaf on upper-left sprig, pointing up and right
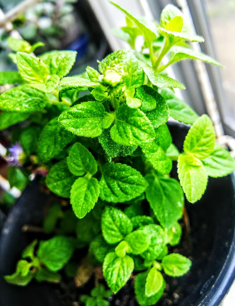
[[49,74],[56,74],[61,79],[66,76],[76,60],[76,51],[69,50],[53,50],[43,53],[39,58],[47,66]]

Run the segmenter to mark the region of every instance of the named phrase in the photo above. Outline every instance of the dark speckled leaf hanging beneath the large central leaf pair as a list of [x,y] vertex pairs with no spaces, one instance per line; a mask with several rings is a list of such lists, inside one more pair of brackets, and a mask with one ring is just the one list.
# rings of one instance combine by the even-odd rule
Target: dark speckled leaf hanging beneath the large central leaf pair
[[110,129],[103,130],[102,134],[98,137],[98,140],[106,154],[110,157],[128,156],[137,148],[137,146],[122,146],[121,144],[114,142],[110,135]]

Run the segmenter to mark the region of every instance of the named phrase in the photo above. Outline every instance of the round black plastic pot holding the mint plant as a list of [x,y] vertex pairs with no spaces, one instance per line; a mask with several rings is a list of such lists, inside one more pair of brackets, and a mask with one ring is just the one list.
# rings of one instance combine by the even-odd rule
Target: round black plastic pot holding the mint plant
[[[188,127],[170,123],[173,143],[181,150]],[[176,176],[176,164],[172,175]],[[218,306],[235,277],[235,176],[210,178],[203,198],[195,204],[186,203],[192,228],[191,271],[179,278],[184,288],[177,306]],[[9,285],[3,275],[14,272],[17,260],[27,243],[35,238],[23,233],[24,224],[42,221],[47,196],[35,181],[22,194],[8,215],[0,236],[0,305],[58,306],[56,285],[32,282],[27,287]],[[159,301],[158,305],[161,305]]]

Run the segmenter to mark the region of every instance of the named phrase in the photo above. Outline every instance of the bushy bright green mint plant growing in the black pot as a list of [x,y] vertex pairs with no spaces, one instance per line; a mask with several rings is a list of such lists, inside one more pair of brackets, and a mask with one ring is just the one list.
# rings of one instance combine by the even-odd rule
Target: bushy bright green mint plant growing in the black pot
[[[143,35],[149,53],[119,50],[99,62],[99,71],[88,66],[80,76],[66,76],[75,52],[35,57],[27,42],[16,40],[18,52],[11,57],[18,72],[1,73],[2,84],[13,88],[0,95],[0,125],[27,120],[14,134],[11,167],[42,174],[57,196],[43,222],[53,237],[33,240],[5,280],[25,286],[72,275],[81,291],[89,284],[91,295],[80,294],[88,306],[108,304],[110,291],[102,283],[115,300],[130,280],[137,302],[147,306],[163,296],[165,278],[187,274],[193,263],[173,248],[181,241],[185,197],[200,200],[208,177],[227,176],[234,160],[215,142],[210,118],[176,97],[173,88],[184,85],[162,73],[188,58],[220,65],[185,43],[203,38],[191,34],[175,6],[166,6],[153,28],[114,5],[127,16],[120,33],[132,47]],[[192,125],[181,152],[166,124],[169,116]],[[170,176],[173,162],[179,181]]]

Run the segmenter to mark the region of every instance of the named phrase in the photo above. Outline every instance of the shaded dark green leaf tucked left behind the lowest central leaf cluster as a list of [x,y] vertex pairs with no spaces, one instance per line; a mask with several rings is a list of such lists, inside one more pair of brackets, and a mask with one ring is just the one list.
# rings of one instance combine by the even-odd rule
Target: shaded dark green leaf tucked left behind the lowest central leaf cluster
[[105,256],[109,252],[114,252],[115,248],[108,244],[102,235],[95,237],[95,239],[90,244],[90,250],[95,255],[95,258],[103,263]]

